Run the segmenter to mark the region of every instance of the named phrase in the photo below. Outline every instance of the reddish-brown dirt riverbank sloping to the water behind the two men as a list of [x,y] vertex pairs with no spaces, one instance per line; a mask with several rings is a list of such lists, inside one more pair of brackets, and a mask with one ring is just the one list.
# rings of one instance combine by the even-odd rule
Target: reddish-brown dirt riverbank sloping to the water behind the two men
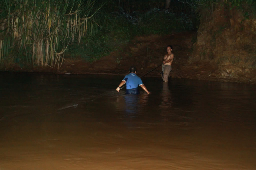
[[[170,35],[151,35],[136,37],[131,43],[124,45],[120,50],[111,52],[95,62],[86,62],[79,57],[63,59],[59,70],[52,67],[22,67],[17,64],[1,68],[1,71],[11,72],[51,72],[56,74],[116,74],[125,75],[130,66],[138,69],[138,75],[142,76],[161,65],[162,58],[166,54],[166,47],[173,46],[174,61],[172,64],[171,78],[185,78],[196,80],[240,82],[256,84],[256,70],[241,68],[240,74],[228,76],[223,73],[216,63],[210,61],[193,62],[191,54],[194,39],[197,32],[173,32]],[[222,66],[222,70],[230,70],[230,66]],[[148,73],[146,77],[161,77],[158,67]]]

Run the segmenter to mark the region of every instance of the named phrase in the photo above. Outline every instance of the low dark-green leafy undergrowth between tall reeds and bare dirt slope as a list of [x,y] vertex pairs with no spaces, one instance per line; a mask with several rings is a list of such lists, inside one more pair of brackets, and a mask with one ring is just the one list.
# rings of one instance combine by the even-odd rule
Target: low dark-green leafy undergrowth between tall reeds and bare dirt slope
[[68,56],[93,62],[111,51],[119,50],[134,36],[170,34],[172,31],[194,29],[187,15],[176,15],[158,8],[144,14],[128,14],[119,8],[119,11],[105,13],[100,23],[98,34],[84,37],[78,48],[74,46],[67,52]]

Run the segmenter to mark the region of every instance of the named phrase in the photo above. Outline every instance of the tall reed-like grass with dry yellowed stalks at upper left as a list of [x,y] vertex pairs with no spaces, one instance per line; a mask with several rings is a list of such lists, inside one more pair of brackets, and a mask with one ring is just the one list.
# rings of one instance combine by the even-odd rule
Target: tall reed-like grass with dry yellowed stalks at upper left
[[69,45],[97,33],[95,0],[3,0],[0,62],[13,53],[33,65],[60,68]]

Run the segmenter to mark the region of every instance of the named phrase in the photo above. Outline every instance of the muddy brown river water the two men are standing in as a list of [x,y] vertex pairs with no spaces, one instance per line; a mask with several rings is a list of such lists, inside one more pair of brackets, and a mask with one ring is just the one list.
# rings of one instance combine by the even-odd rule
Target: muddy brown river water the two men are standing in
[[256,169],[255,85],[147,77],[152,94],[125,95],[123,76],[0,79],[0,170]]

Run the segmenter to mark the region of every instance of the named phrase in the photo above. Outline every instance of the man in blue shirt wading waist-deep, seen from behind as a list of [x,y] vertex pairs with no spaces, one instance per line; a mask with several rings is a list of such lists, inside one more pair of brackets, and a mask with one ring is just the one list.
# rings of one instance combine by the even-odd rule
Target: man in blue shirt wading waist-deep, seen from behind
[[126,84],[126,94],[140,94],[139,86],[142,87],[143,90],[147,92],[147,94],[150,94],[149,91],[147,91],[146,86],[142,83],[140,77],[136,75],[137,69],[134,66],[131,66],[130,68],[130,74],[127,74],[123,81],[118,85],[116,88],[116,91],[119,92],[120,87],[122,87],[124,84]]

